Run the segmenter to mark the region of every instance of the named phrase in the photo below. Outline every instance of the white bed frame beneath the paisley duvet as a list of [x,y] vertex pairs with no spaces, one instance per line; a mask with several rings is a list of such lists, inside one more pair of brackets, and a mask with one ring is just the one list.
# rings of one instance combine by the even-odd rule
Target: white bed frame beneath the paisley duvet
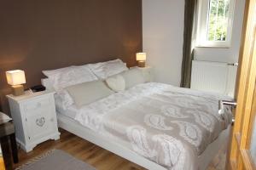
[[[42,84],[48,90],[52,90],[51,84],[49,83],[48,79],[42,79]],[[109,150],[110,152],[118,156],[132,161],[141,167],[152,170],[167,170],[166,167],[162,167],[154,161],[150,161],[147,158],[138,155],[133,150],[130,150],[128,146],[125,146],[125,144],[123,144],[123,142],[117,140],[111,141],[108,138],[102,136],[101,134],[95,133],[89,128],[82,126],[79,122],[76,122],[68,116],[64,116],[63,114],[57,112],[57,120],[58,127],[61,127],[68,132],[79,136],[82,139],[90,141],[91,143],[96,144],[105,150]],[[230,126],[222,133],[220,133],[218,139],[214,140],[212,144],[209,144],[207,146],[207,149],[201,154],[201,156],[198,157],[200,170],[205,170],[207,168],[214,156],[217,156],[220,149],[227,148],[227,139],[229,139],[229,134]]]

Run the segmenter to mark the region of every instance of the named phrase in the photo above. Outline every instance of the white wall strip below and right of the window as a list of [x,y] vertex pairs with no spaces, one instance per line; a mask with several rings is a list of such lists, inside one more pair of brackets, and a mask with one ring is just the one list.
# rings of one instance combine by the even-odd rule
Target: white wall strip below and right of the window
[[195,48],[195,59],[227,63],[238,62],[245,0],[236,0],[230,48]]

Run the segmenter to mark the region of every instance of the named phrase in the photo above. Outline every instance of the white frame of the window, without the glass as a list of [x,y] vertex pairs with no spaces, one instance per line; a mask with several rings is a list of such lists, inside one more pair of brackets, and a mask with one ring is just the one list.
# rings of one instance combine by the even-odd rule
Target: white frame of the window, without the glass
[[225,41],[208,41],[207,29],[211,0],[199,0],[197,11],[196,47],[230,48],[236,0],[230,0],[227,36]]

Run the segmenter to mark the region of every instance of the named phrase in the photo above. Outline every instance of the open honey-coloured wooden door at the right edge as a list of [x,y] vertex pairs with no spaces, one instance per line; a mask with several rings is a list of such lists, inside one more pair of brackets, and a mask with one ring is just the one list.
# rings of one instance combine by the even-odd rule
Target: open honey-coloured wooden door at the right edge
[[256,147],[255,141],[252,142],[256,111],[256,0],[247,0],[244,16],[236,81],[235,124],[227,165],[229,169],[253,170],[256,169],[256,158],[252,154],[252,148]]

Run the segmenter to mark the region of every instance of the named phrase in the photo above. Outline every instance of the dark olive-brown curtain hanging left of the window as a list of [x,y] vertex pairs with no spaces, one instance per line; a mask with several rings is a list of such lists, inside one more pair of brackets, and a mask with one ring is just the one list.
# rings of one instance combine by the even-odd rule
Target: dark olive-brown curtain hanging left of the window
[[183,63],[181,84],[183,88],[190,88],[192,60],[194,58],[195,18],[197,0],[185,0],[184,32],[183,32]]

